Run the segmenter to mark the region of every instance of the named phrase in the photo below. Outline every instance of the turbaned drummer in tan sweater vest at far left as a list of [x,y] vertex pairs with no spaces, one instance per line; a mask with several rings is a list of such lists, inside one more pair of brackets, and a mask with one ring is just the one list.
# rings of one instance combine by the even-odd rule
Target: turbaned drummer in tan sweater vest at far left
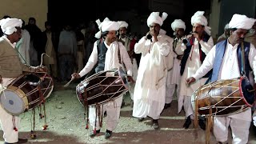
[[[17,50],[15,50],[16,42],[22,38],[22,20],[17,18],[2,19],[0,20],[0,26],[4,34],[0,38],[0,75],[2,76],[0,88],[8,86],[15,78],[22,75],[23,71],[45,71],[41,69],[41,67],[23,64],[20,61]],[[18,138],[20,118],[6,112],[3,106],[0,106],[0,121],[3,130],[3,138],[6,144],[27,142],[27,139]]]

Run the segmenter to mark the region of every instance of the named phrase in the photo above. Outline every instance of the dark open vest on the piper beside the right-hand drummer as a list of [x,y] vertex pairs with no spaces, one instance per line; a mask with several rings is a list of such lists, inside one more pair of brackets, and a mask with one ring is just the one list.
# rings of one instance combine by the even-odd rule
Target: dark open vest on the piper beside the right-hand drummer
[[[210,35],[204,33],[204,37],[202,38],[202,41],[204,42],[208,42],[210,38]],[[184,51],[184,55],[183,55],[183,58],[182,58],[182,62],[181,62],[181,71],[180,71],[180,74],[182,75],[184,73],[184,70],[185,70],[185,66],[186,66],[186,61],[187,59],[189,58],[190,56],[190,51],[192,49],[192,44],[194,43],[194,39],[191,39],[191,42],[188,42],[188,44],[186,45],[186,50]],[[201,45],[200,43],[198,43],[199,45],[199,53],[201,55],[200,57],[200,61],[203,62],[204,59],[206,58],[206,54],[201,50]],[[210,70],[206,75],[204,75],[202,78],[208,78],[210,76],[210,74],[212,73],[212,70]]]

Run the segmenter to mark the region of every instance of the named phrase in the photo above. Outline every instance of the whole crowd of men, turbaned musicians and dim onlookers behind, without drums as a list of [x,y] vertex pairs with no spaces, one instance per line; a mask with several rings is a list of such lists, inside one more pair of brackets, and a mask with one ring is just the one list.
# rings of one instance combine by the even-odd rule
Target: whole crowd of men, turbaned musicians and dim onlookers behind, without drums
[[[125,21],[114,22],[109,18],[102,22],[96,20],[99,31],[93,35],[94,40],[86,42],[87,46],[91,46],[91,51],[86,50],[89,55],[87,59],[83,56],[82,47],[85,42],[82,41],[85,35],[81,35],[82,29],[75,33],[67,23],[56,43],[56,35],[50,30],[50,22],[46,22],[46,30],[42,33],[35,25],[34,18],[30,18],[29,26],[22,26],[22,20],[18,18],[3,18],[0,21],[3,32],[0,39],[2,85],[7,86],[22,71],[44,71],[44,67],[38,66],[42,62],[43,53],[49,56],[44,57],[43,63],[53,77],[60,74],[60,81],[69,81],[71,77],[82,78],[91,71],[98,73],[121,68],[126,71],[130,82],[133,116],[138,118],[138,122],[146,117],[152,118],[152,126],[157,130],[162,110],[170,107],[176,90],[178,113],[183,109],[186,114],[183,127],[187,129],[193,119],[199,119],[199,126],[206,130],[205,119],[197,118],[191,103],[192,94],[198,87],[220,79],[246,76],[256,90],[256,20],[246,15],[234,14],[225,26],[224,34],[214,45],[203,11],[197,11],[192,16],[191,34],[185,34],[186,24],[182,19],[175,19],[170,24],[174,38],[166,35],[166,31],[161,28],[167,16],[165,12],[162,16],[159,12],[152,12],[147,18],[149,31],[139,41],[126,34],[128,23]],[[26,30],[30,38],[26,36]],[[19,42],[21,43],[18,45]],[[28,47],[31,52],[34,48],[37,54],[26,54]],[[242,56],[239,55],[241,51],[244,51]],[[139,63],[136,54],[141,54]],[[37,58],[26,58],[27,55]],[[241,59],[244,65],[241,64]],[[95,137],[100,132],[102,119],[98,115],[105,112],[105,138],[111,137],[118,126],[122,100],[123,95],[102,106],[90,106],[89,122],[93,127],[90,137]],[[18,138],[18,130],[14,129],[18,127],[18,116],[6,113],[2,106],[0,110],[5,142],[27,142],[26,139]],[[254,109],[248,108],[238,114],[214,117],[213,133],[218,143],[227,143],[229,127],[232,143],[247,143],[252,120],[256,126],[256,114],[253,115],[253,112]]]

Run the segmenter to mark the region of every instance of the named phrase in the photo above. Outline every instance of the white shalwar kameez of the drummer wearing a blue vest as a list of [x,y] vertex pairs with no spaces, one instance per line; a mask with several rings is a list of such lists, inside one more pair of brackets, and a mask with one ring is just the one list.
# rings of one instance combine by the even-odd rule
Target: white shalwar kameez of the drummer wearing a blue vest
[[[218,74],[218,79],[231,79],[240,77],[237,56],[238,44],[232,46],[227,42],[226,52],[222,60],[222,66]],[[214,46],[210,53],[207,54],[205,61],[196,74],[192,75],[195,79],[201,78],[214,65],[216,47]],[[256,50],[254,45],[250,44],[248,55],[250,67],[256,74]],[[256,78],[254,78],[256,80]],[[246,144],[249,138],[250,122],[252,120],[251,108],[238,114],[228,116],[214,117],[214,136],[218,142],[228,140],[229,126],[232,130],[233,144]]]

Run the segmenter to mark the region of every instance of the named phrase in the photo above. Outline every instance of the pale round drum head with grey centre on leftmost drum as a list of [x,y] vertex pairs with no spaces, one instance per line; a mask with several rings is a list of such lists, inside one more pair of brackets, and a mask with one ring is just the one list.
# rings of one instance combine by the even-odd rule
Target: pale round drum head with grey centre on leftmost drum
[[13,90],[3,90],[0,94],[0,102],[9,114],[22,114],[25,110],[24,102]]

